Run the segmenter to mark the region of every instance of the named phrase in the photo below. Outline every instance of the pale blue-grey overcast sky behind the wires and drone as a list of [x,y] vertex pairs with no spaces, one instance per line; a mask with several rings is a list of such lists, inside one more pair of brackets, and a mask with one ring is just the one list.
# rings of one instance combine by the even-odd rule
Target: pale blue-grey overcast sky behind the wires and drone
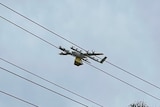
[[[160,86],[159,0],[0,0],[1,3],[60,34],[86,50],[102,52],[107,61]],[[69,49],[73,44],[51,34],[0,5],[1,16],[48,42]],[[144,101],[159,107],[154,99],[95,68],[74,66],[74,57],[0,18],[0,58],[91,99],[104,107],[128,107]],[[104,56],[102,56],[104,57]],[[90,62],[105,72],[160,98],[160,89],[109,65]],[[98,105],[66,92],[0,60],[11,70],[88,107]],[[39,107],[82,107],[21,78],[0,70],[0,90]],[[30,105],[0,93],[1,107]]]

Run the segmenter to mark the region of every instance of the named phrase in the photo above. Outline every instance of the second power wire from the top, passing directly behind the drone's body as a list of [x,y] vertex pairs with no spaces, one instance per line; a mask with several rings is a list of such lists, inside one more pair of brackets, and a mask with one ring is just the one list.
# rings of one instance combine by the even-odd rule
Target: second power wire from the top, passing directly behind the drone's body
[[[13,24],[13,25],[15,25],[15,26],[21,28],[22,30],[26,31],[24,28],[22,28],[22,27],[16,25],[15,23],[13,23],[13,22],[11,22],[11,21],[5,19],[4,17],[2,17],[2,16],[0,16],[0,17],[1,17],[2,19],[4,19],[4,20],[8,21],[9,23],[11,23],[11,24]],[[30,34],[33,34],[33,33],[30,33]],[[45,41],[46,41],[46,40],[45,40]],[[53,45],[53,44],[49,43],[48,41],[47,41],[46,43],[48,43],[49,45]],[[56,46],[55,46],[55,47],[56,47]],[[59,49],[59,48],[58,48],[58,49]],[[88,63],[86,63],[86,64],[88,64]],[[104,70],[102,70],[102,69],[100,69],[100,68],[98,68],[98,67],[96,67],[96,66],[93,66],[93,65],[91,65],[91,64],[88,64],[88,65],[90,65],[91,67],[93,67],[93,68],[95,68],[95,69],[97,69],[97,70],[99,70],[99,71],[101,71],[101,72],[103,72],[103,73],[105,73],[105,74],[107,74],[107,75],[113,77],[113,78],[116,79],[116,80],[119,80],[119,81],[125,83],[126,85],[128,85],[128,86],[130,86],[130,87],[132,87],[132,88],[134,88],[134,89],[136,89],[136,90],[138,90],[138,91],[143,92],[144,94],[146,94],[146,95],[148,95],[148,96],[150,96],[150,97],[152,97],[152,98],[154,98],[154,99],[160,100],[160,98],[155,97],[155,96],[153,96],[153,95],[151,95],[151,94],[145,92],[144,90],[139,89],[139,88],[135,87],[134,85],[131,85],[131,84],[129,84],[128,82],[125,82],[125,81],[119,79],[118,77],[115,77],[115,76],[113,76],[113,75],[111,75],[111,74],[105,72]]]

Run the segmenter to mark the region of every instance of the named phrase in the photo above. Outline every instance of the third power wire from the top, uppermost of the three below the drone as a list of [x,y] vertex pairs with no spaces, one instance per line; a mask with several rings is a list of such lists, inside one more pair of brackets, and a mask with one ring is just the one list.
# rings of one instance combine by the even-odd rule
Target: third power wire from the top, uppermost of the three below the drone
[[41,76],[39,76],[39,75],[37,75],[37,74],[34,74],[34,73],[32,73],[31,71],[26,70],[26,69],[24,69],[24,68],[22,68],[22,67],[20,67],[20,66],[18,66],[18,65],[16,65],[16,64],[12,63],[12,62],[9,62],[9,61],[7,61],[7,60],[5,60],[5,59],[3,59],[3,58],[0,58],[0,60],[6,62],[6,63],[8,63],[8,64],[11,64],[12,66],[15,66],[15,67],[19,68],[20,70],[23,70],[23,71],[25,71],[25,72],[27,72],[27,73],[35,76],[35,77],[38,77],[38,78],[40,78],[41,80],[44,80],[44,81],[46,81],[46,82],[48,82],[48,83],[50,83],[50,84],[52,84],[52,85],[55,85],[55,86],[57,86],[57,87],[65,90],[65,91],[67,91],[67,92],[70,92],[70,93],[72,93],[72,94],[74,94],[74,95],[76,95],[76,96],[78,96],[78,97],[80,97],[80,98],[83,98],[83,99],[85,99],[85,100],[87,100],[87,101],[89,101],[89,102],[92,102],[93,104],[96,104],[96,105],[98,105],[98,106],[100,106],[100,107],[103,107],[102,105],[96,103],[95,101],[92,101],[92,100],[90,100],[90,99],[88,99],[88,98],[86,98],[86,97],[83,97],[83,96],[77,94],[76,92],[73,92],[73,91],[71,91],[71,90],[69,90],[69,89],[67,89],[67,88],[64,88],[64,87],[62,87],[62,86],[60,86],[60,85],[58,85],[58,84],[56,84],[56,83],[54,83],[54,82],[52,82],[52,81],[49,81],[49,80],[47,80],[47,79],[45,79],[45,78],[43,78],[43,77],[41,77]]

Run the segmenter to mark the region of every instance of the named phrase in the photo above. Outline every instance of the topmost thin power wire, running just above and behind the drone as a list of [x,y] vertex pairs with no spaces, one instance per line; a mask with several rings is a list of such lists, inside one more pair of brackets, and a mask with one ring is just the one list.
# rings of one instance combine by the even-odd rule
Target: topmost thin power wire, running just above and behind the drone
[[[49,30],[48,28],[46,28],[46,27],[42,26],[41,24],[39,24],[39,23],[37,23],[37,22],[31,20],[30,18],[28,18],[28,17],[26,17],[26,16],[20,14],[19,12],[15,11],[14,9],[12,9],[12,8],[10,8],[10,7],[8,7],[8,6],[4,5],[4,4],[2,4],[2,3],[0,3],[0,4],[1,4],[3,7],[7,8],[7,9],[11,10],[12,12],[14,12],[14,13],[20,15],[21,17],[27,19],[28,21],[31,21],[32,23],[34,23],[34,24],[38,25],[39,27],[45,29],[46,31],[48,31],[48,32],[50,32],[50,33],[56,35],[57,37],[59,37],[59,38],[65,40],[65,41],[67,41],[68,43],[70,43],[70,44],[72,44],[72,45],[74,45],[74,46],[76,46],[76,47],[78,47],[78,48],[80,48],[80,49],[82,49],[82,50],[84,50],[84,51],[87,52],[86,49],[84,49],[84,48],[78,46],[77,44],[71,42],[70,40],[64,38],[63,36],[61,36],[61,35],[59,35],[59,34],[53,32],[52,30]],[[98,57],[98,56],[96,56],[96,57]],[[98,58],[100,58],[100,57],[98,57]],[[101,58],[100,58],[100,59],[101,59]],[[157,89],[160,89],[159,86],[157,86],[157,85],[155,85],[155,84],[153,84],[153,83],[151,83],[151,82],[149,82],[149,81],[147,81],[147,80],[145,80],[145,79],[143,79],[143,78],[141,78],[141,77],[139,77],[139,76],[137,76],[137,75],[135,75],[135,74],[130,73],[129,71],[123,69],[122,67],[119,67],[119,66],[117,66],[117,65],[115,65],[115,64],[113,64],[113,63],[111,63],[111,62],[109,62],[109,61],[105,61],[105,62],[108,63],[108,64],[110,64],[111,66],[114,66],[115,68],[117,68],[117,69],[119,69],[119,70],[121,70],[121,71],[123,71],[123,72],[125,72],[125,73],[127,73],[127,74],[129,74],[129,75],[131,75],[131,76],[133,76],[133,77],[135,77],[135,78],[137,78],[137,79],[139,79],[139,80],[141,80],[141,81],[143,81],[143,82],[145,82],[145,83],[147,83],[147,84],[153,86],[153,87],[155,87],[155,88],[157,88]]]

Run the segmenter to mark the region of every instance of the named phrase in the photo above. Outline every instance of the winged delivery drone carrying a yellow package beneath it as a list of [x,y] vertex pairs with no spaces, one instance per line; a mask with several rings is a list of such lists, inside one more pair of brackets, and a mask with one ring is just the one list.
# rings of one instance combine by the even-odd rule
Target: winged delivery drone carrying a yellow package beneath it
[[59,55],[74,56],[75,57],[74,65],[76,65],[76,66],[83,65],[83,61],[90,63],[88,61],[88,58],[90,58],[96,62],[99,62],[99,63],[103,63],[107,59],[106,56],[104,58],[102,58],[101,60],[98,60],[95,57],[93,57],[93,56],[97,56],[97,55],[103,55],[103,53],[96,53],[94,51],[92,51],[92,52],[86,51],[85,53],[83,53],[82,50],[78,50],[78,48],[74,48],[73,46],[71,47],[72,51],[66,50],[65,48],[62,48],[61,46],[59,46],[59,49],[63,51],[63,52],[59,53]]

